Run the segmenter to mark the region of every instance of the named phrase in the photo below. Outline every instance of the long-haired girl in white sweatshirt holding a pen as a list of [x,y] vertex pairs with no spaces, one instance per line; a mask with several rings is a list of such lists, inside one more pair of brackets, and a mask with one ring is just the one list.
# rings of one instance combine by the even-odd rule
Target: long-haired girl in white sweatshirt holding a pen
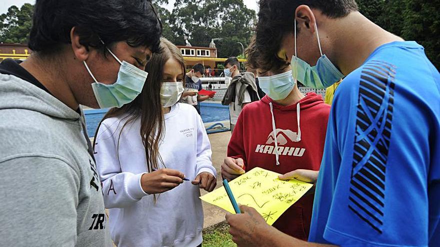
[[95,135],[97,171],[118,247],[200,246],[200,189],[216,185],[203,122],[192,106],[177,103],[183,57],[164,38],[160,49],[146,65],[142,92],[110,109]]

